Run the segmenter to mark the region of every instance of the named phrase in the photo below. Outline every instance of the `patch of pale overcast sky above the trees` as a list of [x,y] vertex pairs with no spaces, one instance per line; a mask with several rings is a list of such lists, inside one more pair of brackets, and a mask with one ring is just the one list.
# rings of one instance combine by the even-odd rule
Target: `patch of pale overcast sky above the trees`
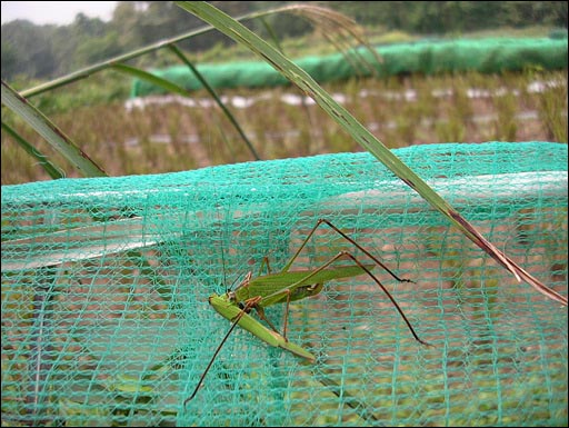
[[116,1],[2,1],[2,23],[27,19],[37,24],[73,22],[77,13],[109,21]]

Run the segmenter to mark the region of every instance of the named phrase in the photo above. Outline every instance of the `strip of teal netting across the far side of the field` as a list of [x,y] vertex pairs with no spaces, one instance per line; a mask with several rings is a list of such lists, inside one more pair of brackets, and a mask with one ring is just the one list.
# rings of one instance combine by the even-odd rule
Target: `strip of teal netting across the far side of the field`
[[[567,37],[423,40],[381,46],[376,48],[376,51],[383,59],[382,62],[378,62],[377,58],[363,48],[347,56],[311,56],[295,62],[321,83],[371,76],[372,70],[376,76],[386,77],[455,71],[497,73],[536,67],[546,70],[567,68]],[[197,69],[212,88],[263,88],[289,83],[287,78],[264,61],[198,64]],[[203,88],[187,66],[151,72],[188,90]],[[134,79],[132,82],[131,97],[166,92],[164,89],[144,80]]]

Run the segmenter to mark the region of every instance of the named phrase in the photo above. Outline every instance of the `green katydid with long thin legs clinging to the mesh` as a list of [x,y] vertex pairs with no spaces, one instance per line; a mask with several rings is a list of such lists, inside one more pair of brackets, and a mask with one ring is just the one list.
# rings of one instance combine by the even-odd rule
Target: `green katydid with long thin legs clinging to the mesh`
[[[332,230],[342,236],[346,240],[348,240],[359,250],[361,250],[367,257],[373,260],[375,265],[363,265],[349,251],[340,251],[338,255],[332,257],[330,260],[328,260],[326,263],[321,265],[317,269],[290,271],[289,269],[297,259],[297,257],[299,256],[300,251],[302,251],[307,242],[310,240],[312,235],[321,225],[329,226]],[[330,268],[330,265],[332,265],[333,262],[341,258],[351,259],[355,262],[355,265]],[[267,258],[264,259],[264,261],[267,262],[267,267],[269,267]],[[228,291],[221,296],[210,296],[209,302],[213,307],[213,309],[216,309],[222,317],[230,320],[232,325],[228,332],[226,334],[226,336],[223,337],[223,339],[221,340],[221,342],[219,344],[218,348],[216,349],[216,352],[211,357],[208,366],[206,367],[206,370],[201,375],[201,378],[198,385],[196,386],[196,389],[193,390],[191,396],[183,401],[183,405],[186,406],[186,404],[189,400],[196,397],[196,394],[200,389],[203,379],[206,378],[206,375],[208,374],[216,357],[218,356],[223,344],[228,339],[231,331],[233,331],[236,326],[239,326],[248,330],[249,332],[257,336],[259,339],[266,341],[268,345],[286,349],[298,357],[306,358],[307,360],[313,362],[316,360],[316,357],[312,354],[310,354],[302,347],[292,344],[287,339],[289,305],[291,301],[318,295],[322,290],[325,282],[335,279],[351,278],[367,273],[371,279],[373,279],[373,281],[379,286],[379,288],[381,288],[381,290],[383,290],[383,292],[391,300],[391,302],[393,303],[393,306],[396,307],[396,309],[398,310],[398,312],[401,315],[405,322],[409,327],[409,330],[413,335],[415,339],[422,345],[429,345],[419,338],[419,336],[415,332],[415,329],[412,328],[411,324],[405,316],[403,311],[401,310],[397,301],[389,293],[386,287],[376,278],[376,276],[371,273],[371,270],[375,268],[376,265],[380,266],[389,275],[391,275],[391,277],[393,277],[396,280],[400,282],[413,282],[410,279],[399,278],[385,263],[379,261],[373,255],[371,255],[368,250],[361,247],[352,238],[350,238],[336,226],[333,226],[330,221],[326,219],[319,219],[317,223],[312,227],[308,236],[305,238],[301,246],[298,248],[297,252],[295,252],[292,258],[288,261],[288,263],[282,268],[280,272],[271,273],[270,269],[268,269],[268,275],[259,276],[257,278],[252,278],[251,272],[249,272],[244,277],[243,281],[236,288],[236,290]],[[272,322],[269,321],[269,319],[267,319],[267,317],[264,316],[264,308],[271,305],[283,302],[287,303],[287,308],[284,311],[284,326],[282,328],[281,335],[272,325]],[[270,329],[249,315],[252,309],[257,311],[261,320],[267,322]]]

